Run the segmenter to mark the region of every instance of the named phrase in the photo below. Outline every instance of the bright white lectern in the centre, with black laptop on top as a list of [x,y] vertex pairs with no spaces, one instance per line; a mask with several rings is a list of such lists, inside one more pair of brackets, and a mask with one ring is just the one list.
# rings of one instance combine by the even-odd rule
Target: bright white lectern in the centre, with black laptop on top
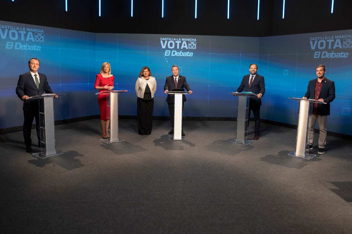
[[174,136],[169,135],[169,140],[182,140],[182,97],[183,94],[189,94],[183,91],[169,91],[169,94],[175,95],[174,111]]

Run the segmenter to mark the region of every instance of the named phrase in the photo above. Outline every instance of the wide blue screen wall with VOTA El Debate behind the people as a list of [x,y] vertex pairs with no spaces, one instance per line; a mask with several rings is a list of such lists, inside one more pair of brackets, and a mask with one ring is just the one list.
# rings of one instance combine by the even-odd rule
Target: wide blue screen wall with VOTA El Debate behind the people
[[[288,97],[303,97],[308,81],[316,78],[316,65],[324,64],[336,87],[328,131],[351,135],[352,30],[256,38],[90,33],[5,21],[0,30],[0,128],[23,125],[23,102],[15,88],[19,75],[29,71],[28,60],[36,57],[52,90],[65,94],[55,99],[55,120],[100,114],[93,86],[105,61],[111,64],[115,89],[128,90],[119,96],[120,115],[137,115],[134,84],[142,67],[149,66],[157,80],[153,115],[168,116],[163,86],[177,64],[193,91],[184,116],[236,117],[237,97],[228,92],[257,63],[266,89],[260,117],[297,124],[298,102]],[[195,39],[196,48],[168,48],[167,42],[162,48],[161,39],[168,38]],[[29,49],[34,45],[40,50]],[[193,56],[165,56],[165,50]],[[349,53],[347,58],[331,58],[341,52]]]

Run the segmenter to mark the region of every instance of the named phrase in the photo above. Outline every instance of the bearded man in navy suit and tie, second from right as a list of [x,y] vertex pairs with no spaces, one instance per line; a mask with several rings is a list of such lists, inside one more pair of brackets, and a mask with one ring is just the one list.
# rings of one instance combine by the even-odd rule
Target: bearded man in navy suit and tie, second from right
[[[260,106],[262,105],[262,100],[260,98],[263,97],[265,93],[265,84],[264,77],[260,76],[257,73],[258,66],[257,64],[252,63],[249,66],[249,75],[245,75],[242,79],[242,82],[236,92],[252,92],[256,96],[250,96],[249,100],[249,110],[248,115],[251,115],[251,110],[254,115],[254,140],[259,139],[259,130],[260,130]],[[233,96],[236,96],[234,94]],[[248,121],[249,124],[249,121]]]

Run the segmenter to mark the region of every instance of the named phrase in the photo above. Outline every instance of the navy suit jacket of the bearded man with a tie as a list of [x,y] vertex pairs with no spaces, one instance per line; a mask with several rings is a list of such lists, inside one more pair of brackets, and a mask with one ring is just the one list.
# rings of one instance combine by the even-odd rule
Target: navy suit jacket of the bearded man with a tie
[[[252,82],[251,87],[249,87],[249,78],[251,75],[245,75],[242,78],[242,82],[240,84],[240,86],[238,87],[238,89],[236,90],[236,92],[242,92],[243,90],[245,92],[252,92],[255,93],[256,95],[258,93],[261,93],[264,96],[265,93],[265,83],[264,83],[264,77],[260,76],[258,73],[256,74],[256,76],[254,77],[254,80]],[[252,102],[256,102],[259,105],[262,105],[262,99],[259,99],[257,97],[254,96],[250,96],[250,100]]]

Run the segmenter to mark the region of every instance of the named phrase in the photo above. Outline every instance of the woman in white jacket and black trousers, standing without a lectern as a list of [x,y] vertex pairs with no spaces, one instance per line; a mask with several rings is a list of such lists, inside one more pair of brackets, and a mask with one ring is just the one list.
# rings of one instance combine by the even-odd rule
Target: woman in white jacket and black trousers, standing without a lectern
[[140,70],[134,90],[137,95],[138,134],[149,135],[152,132],[156,91],[156,79],[152,77],[149,67],[143,67]]

